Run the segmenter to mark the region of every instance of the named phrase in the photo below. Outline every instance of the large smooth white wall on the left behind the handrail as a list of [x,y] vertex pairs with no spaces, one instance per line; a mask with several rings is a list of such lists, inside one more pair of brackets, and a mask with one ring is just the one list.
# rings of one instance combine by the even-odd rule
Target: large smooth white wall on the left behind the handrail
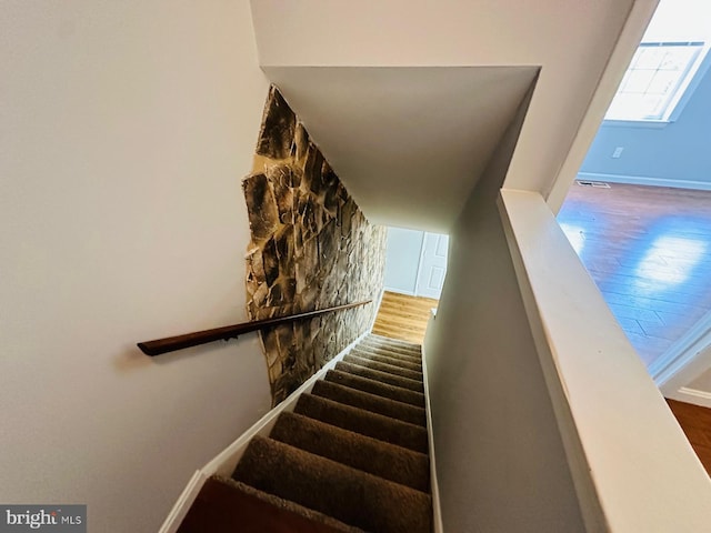
[[134,348],[246,319],[253,39],[243,1],[2,3],[0,502],[152,533],[269,409],[254,336]]

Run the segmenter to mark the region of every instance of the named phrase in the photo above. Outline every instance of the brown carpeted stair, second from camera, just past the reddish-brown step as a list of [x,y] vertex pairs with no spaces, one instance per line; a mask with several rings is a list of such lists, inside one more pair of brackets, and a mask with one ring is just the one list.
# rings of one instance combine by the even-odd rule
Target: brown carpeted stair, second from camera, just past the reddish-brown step
[[428,494],[272,439],[253,438],[232,476],[365,531],[431,533]]

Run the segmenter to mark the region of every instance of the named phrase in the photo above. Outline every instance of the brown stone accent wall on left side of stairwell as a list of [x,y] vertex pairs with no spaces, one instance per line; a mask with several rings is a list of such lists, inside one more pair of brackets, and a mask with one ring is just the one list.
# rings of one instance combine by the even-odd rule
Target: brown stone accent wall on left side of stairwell
[[[385,230],[365,220],[277,88],[269,91],[253,173],[242,183],[252,240],[251,320],[375,299]],[[264,330],[274,405],[368,328],[374,303]]]

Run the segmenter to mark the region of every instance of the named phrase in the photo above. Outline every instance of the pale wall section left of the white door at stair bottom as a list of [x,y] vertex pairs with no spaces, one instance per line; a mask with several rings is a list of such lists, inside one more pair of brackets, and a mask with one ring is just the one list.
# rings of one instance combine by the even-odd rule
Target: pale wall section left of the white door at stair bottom
[[423,231],[388,228],[383,281],[387,291],[414,294],[423,239]]

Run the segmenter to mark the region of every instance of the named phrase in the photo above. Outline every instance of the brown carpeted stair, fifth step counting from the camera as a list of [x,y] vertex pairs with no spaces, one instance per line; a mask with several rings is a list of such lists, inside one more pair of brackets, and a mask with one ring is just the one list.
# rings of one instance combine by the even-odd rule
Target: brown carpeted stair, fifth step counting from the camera
[[340,385],[332,381],[317,381],[311,390],[311,394],[328,398],[329,400],[344,403],[352,408],[364,409],[371,413],[401,420],[410,424],[427,426],[427,416],[422,408],[359,391],[358,389],[351,389],[350,386]]

